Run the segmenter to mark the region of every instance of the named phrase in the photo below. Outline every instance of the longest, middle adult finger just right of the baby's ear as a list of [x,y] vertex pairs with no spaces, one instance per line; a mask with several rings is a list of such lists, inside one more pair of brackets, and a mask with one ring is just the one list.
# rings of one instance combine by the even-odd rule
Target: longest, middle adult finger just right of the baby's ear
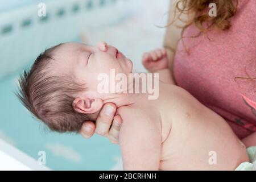
[[113,103],[106,103],[98,115],[95,132],[99,135],[109,133],[117,107]]

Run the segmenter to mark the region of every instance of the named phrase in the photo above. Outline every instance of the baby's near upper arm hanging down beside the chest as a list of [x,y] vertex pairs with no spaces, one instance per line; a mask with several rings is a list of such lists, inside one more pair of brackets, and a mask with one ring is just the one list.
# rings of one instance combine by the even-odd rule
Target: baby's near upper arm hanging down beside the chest
[[122,152],[123,169],[158,170],[161,134],[157,122],[151,121],[142,114],[138,115],[136,111],[125,112],[121,117],[123,125],[119,134],[119,145]]

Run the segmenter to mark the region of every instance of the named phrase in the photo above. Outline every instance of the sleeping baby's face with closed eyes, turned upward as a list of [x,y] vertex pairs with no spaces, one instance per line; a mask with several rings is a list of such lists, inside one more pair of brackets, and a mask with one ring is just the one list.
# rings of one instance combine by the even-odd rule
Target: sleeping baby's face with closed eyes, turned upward
[[[65,43],[56,49],[53,67],[63,73],[72,72],[77,81],[86,84],[89,91],[95,92],[100,82],[98,75],[106,73],[110,79],[110,70],[115,74],[125,73],[128,76],[133,69],[133,63],[117,48],[100,42],[97,46],[87,46],[81,43]],[[58,72],[59,72],[58,71]]]

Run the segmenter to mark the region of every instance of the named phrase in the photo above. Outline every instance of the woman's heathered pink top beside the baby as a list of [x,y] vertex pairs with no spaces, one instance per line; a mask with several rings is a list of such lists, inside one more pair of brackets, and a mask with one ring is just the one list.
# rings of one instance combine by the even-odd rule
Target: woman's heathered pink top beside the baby
[[[228,31],[184,31],[174,60],[177,85],[220,114],[239,138],[256,131],[256,1],[238,1]],[[243,77],[240,78],[240,77]]]

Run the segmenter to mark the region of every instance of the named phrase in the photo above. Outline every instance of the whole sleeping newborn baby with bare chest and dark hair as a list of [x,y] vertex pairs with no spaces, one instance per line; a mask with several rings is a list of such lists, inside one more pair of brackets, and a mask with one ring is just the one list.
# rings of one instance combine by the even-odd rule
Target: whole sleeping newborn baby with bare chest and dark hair
[[[143,64],[168,73],[164,49],[145,55]],[[85,120],[95,121],[102,106],[113,102],[123,119],[119,144],[125,170],[233,170],[249,160],[223,118],[168,81],[159,82],[156,100],[148,100],[148,93],[98,92],[98,75],[114,69],[129,77],[132,68],[130,59],[104,42],[59,44],[39,55],[21,76],[19,98],[59,132],[79,131]],[[141,84],[128,81],[123,89]]]

